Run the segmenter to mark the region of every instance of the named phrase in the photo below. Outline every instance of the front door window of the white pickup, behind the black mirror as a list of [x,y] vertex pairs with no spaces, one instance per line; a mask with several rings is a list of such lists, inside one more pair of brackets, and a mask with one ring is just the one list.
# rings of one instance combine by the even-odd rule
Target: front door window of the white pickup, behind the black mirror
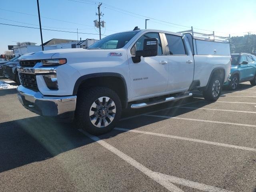
[[143,36],[141,36],[138,41],[134,44],[134,46],[131,49],[131,54],[135,55],[136,51],[141,51],[143,50],[143,44],[144,44],[144,39],[146,38],[157,38],[158,39],[158,54],[157,55],[162,55],[162,44],[160,40],[160,36],[158,33],[146,33]]

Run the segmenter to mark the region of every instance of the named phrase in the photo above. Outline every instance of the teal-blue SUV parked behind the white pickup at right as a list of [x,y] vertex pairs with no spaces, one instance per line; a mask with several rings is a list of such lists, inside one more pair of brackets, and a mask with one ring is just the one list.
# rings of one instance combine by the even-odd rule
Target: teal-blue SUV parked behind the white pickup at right
[[256,85],[256,57],[251,54],[231,54],[231,70],[229,81],[224,85],[230,90],[235,90],[238,83],[250,81]]

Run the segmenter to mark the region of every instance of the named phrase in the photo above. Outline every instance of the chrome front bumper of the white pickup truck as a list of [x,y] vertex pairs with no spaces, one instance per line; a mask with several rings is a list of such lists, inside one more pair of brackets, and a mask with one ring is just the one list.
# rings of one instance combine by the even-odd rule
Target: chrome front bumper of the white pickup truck
[[17,91],[20,103],[36,114],[74,118],[76,96],[44,96],[23,86],[18,86]]

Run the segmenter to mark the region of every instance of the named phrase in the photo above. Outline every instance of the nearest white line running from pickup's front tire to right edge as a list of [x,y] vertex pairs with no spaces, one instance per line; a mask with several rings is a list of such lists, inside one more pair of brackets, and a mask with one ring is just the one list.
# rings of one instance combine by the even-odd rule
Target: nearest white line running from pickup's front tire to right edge
[[256,148],[250,148],[250,147],[244,147],[244,146],[237,146],[237,145],[218,143],[218,142],[212,142],[212,141],[206,141],[206,140],[200,140],[200,139],[180,137],[180,136],[168,135],[168,134],[162,134],[162,133],[139,131],[139,130],[133,130],[133,129],[125,129],[125,128],[114,128],[114,129],[120,130],[120,131],[126,131],[126,132],[135,132],[135,133],[141,133],[141,134],[148,134],[148,135],[167,137],[167,138],[172,138],[172,139],[186,140],[186,141],[191,141],[191,142],[204,143],[204,144],[210,144],[210,145],[216,145],[216,146],[229,147],[229,148],[235,148],[235,149],[240,149],[240,150],[256,152]]

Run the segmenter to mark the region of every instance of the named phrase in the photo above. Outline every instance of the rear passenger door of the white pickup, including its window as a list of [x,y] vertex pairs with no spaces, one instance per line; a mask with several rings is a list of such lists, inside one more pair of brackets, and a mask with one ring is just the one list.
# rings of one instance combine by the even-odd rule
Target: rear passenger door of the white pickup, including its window
[[169,64],[167,91],[188,88],[194,76],[194,58],[186,38],[165,34],[166,58]]

